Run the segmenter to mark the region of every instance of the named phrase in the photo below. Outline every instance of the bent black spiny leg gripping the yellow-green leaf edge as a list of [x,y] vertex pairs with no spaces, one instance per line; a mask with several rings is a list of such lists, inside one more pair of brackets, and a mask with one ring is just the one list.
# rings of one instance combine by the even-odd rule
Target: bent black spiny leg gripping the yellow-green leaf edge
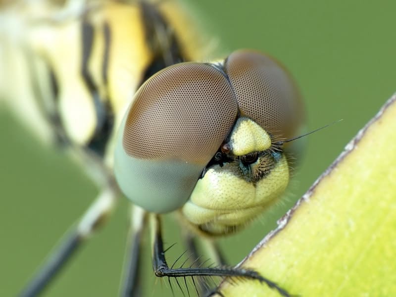
[[[166,259],[165,251],[163,248],[162,234],[161,234],[161,221],[158,215],[150,214],[150,226],[152,228],[151,236],[153,241],[153,269],[157,277],[174,277],[185,278],[194,276],[219,276],[219,277],[236,277],[257,280],[265,283],[268,287],[278,291],[281,296],[290,297],[291,295],[279,287],[276,283],[269,279],[262,277],[260,274],[253,270],[232,268],[232,267],[189,267],[189,268],[169,268]],[[219,293],[219,292],[214,292]],[[221,294],[220,294],[221,295]]]

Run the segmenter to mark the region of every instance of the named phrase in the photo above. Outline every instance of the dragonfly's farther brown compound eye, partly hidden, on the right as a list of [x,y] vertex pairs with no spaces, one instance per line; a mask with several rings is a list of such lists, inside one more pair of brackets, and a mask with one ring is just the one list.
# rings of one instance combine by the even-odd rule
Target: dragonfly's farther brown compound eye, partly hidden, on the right
[[269,56],[253,50],[233,52],[225,72],[235,90],[243,115],[268,133],[289,139],[303,124],[303,104],[286,69]]

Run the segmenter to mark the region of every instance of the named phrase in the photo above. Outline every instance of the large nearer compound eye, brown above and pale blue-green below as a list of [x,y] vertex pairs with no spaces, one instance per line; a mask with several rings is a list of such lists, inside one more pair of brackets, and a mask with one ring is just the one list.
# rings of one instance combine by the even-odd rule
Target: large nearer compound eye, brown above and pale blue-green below
[[[182,63],[155,74],[139,89],[123,121],[117,144],[122,151],[116,149],[115,156],[123,192],[148,211],[182,206],[237,113],[229,82],[213,66]],[[129,170],[121,170],[125,165],[117,157]]]

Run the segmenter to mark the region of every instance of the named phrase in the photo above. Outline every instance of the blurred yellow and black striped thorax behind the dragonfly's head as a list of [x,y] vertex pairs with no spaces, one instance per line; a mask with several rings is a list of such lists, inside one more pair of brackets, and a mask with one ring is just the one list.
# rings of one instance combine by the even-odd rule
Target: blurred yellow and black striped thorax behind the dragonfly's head
[[73,9],[26,13],[32,90],[58,141],[106,156],[139,86],[166,66],[201,58],[197,36],[169,0]]

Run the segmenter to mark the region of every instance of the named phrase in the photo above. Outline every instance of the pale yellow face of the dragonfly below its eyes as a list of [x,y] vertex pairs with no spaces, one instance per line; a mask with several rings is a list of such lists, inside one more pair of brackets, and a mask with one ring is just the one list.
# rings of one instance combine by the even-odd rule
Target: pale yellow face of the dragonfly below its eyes
[[222,147],[228,162],[206,169],[181,210],[187,221],[210,235],[246,225],[280,198],[289,182],[284,153],[272,150],[271,136],[253,120],[239,118]]

